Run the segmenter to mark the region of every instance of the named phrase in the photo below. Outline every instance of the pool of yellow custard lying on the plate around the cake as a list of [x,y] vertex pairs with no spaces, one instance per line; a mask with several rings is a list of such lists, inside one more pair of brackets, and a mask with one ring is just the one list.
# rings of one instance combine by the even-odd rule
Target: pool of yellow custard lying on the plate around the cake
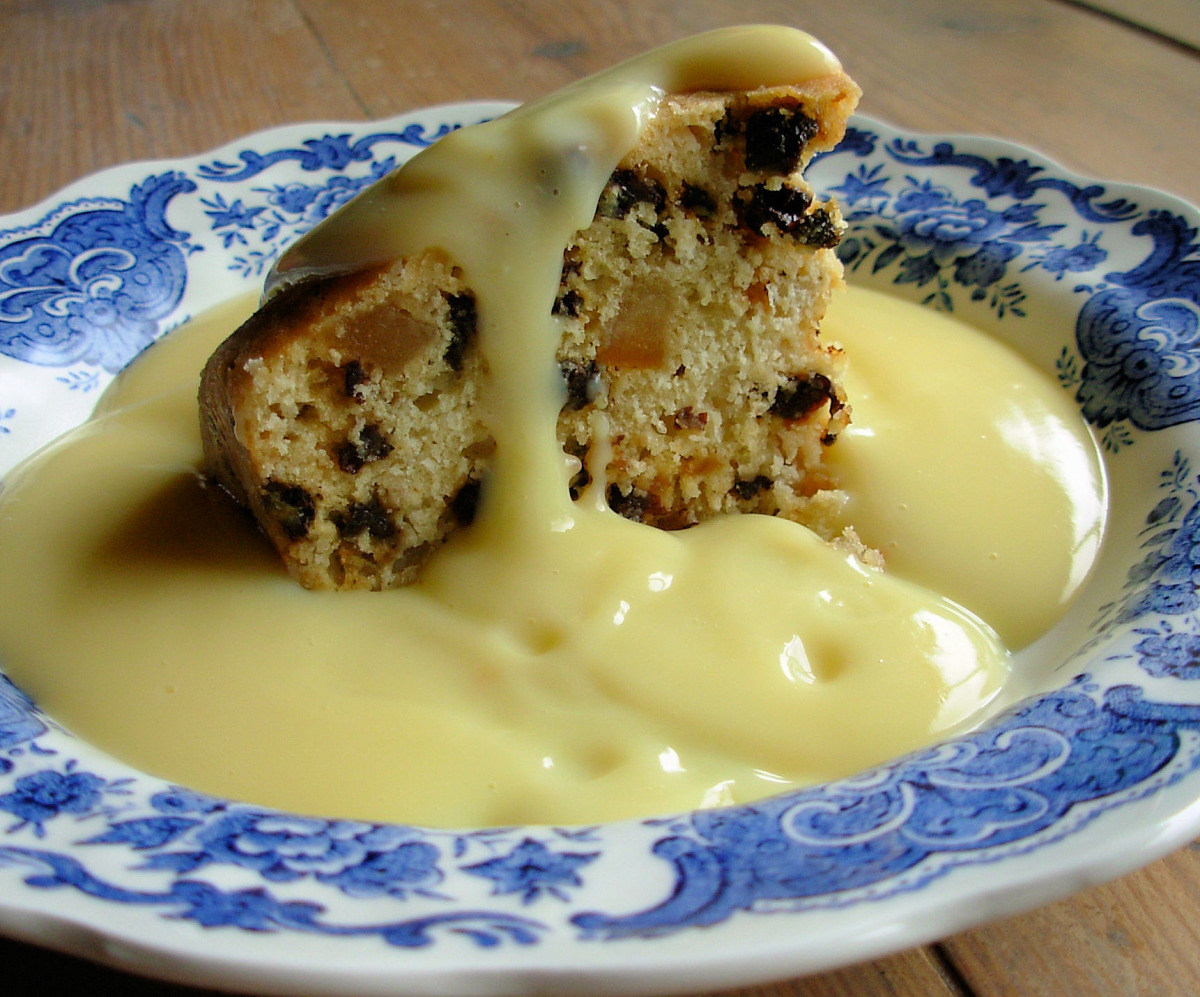
[[[199,473],[198,366],[250,307],[149,350],[0,503],[6,672],[145,771],[322,815],[594,822],[846,775],[978,721],[1012,683],[1000,641],[901,581],[899,555],[883,575],[760,516],[667,534],[581,509],[582,530],[496,584],[462,545],[428,585],[306,591]],[[864,394],[876,370],[946,382],[932,438],[902,392],[858,410],[847,480],[911,472],[887,500],[852,488],[859,530],[912,548],[932,590],[983,593],[973,608],[1013,647],[1037,636],[1104,522],[1069,398],[988,336],[876,292],[851,288],[826,328],[870,356],[851,362]],[[1033,499],[1048,515],[996,515]],[[455,605],[456,569],[466,591],[504,593],[508,623]],[[544,593],[572,585],[588,612],[565,620]]]

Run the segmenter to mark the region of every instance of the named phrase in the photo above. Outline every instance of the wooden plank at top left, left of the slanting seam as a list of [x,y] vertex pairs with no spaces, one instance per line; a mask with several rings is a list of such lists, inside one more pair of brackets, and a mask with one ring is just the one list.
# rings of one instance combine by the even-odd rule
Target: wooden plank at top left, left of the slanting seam
[[0,211],[106,166],[362,116],[289,0],[5,0],[0,25]]

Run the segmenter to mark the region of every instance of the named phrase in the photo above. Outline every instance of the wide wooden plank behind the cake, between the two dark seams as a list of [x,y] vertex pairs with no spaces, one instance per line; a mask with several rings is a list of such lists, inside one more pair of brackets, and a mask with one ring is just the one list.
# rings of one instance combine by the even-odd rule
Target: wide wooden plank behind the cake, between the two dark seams
[[[1044,0],[298,0],[366,112],[527,100],[694,31],[774,22],[824,40],[863,110],[923,131],[1008,138],[1090,176],[1200,202],[1200,59]],[[418,48],[446,53],[421,58]]]

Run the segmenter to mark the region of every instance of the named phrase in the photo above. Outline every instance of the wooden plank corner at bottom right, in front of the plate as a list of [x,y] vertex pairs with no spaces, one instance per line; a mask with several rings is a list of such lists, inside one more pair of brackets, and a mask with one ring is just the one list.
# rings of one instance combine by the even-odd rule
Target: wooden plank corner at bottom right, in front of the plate
[[978,997],[1200,993],[1200,843],[944,943]]

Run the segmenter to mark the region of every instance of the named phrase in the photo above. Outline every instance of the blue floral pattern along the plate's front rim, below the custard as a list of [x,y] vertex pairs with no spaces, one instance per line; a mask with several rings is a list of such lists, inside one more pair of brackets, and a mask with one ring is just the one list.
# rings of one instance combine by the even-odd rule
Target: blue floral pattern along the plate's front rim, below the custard
[[[278,813],[179,787],[142,804],[133,777],[64,761],[42,745],[44,732],[23,695],[0,685],[0,761],[6,771],[25,771],[0,794],[10,818],[0,866],[24,870],[25,885],[160,907],[205,927],[376,935],[404,948],[428,945],[440,932],[482,948],[533,945],[564,905],[581,939],[611,941],[714,925],[739,911],[880,900],[958,865],[1042,847],[1200,767],[1200,705],[1148,701],[1133,685],[1102,691],[1081,677],[971,737],[862,776],[646,822],[655,835],[650,854],[673,869],[665,897],[632,914],[570,913],[602,858],[601,828],[442,831]],[[55,822],[80,828],[70,852],[40,846]],[[100,846],[136,859],[120,881],[90,870],[88,852]],[[204,878],[220,867],[250,873],[253,884],[230,889]],[[148,885],[162,873],[164,888]],[[462,877],[486,883],[476,903],[463,902],[461,883],[451,885]],[[313,897],[325,893],[324,902],[272,890],[298,882]],[[425,903],[415,917],[353,923],[328,915],[338,896],[386,897],[397,914]]]

